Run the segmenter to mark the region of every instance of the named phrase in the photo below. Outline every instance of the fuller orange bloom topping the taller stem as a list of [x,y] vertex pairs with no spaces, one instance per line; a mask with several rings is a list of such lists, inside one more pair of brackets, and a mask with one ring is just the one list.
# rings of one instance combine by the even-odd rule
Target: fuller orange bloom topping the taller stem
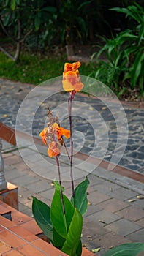
[[63,72],[63,88],[64,91],[80,91],[83,88],[83,83],[80,82],[78,68],[80,62],[65,63]]

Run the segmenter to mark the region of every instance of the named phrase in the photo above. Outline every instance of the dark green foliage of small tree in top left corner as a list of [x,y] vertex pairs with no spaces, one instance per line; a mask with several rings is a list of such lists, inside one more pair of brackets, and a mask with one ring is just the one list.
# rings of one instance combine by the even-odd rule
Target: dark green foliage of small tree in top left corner
[[0,26],[4,34],[11,39],[13,48],[16,46],[15,56],[1,45],[0,50],[13,61],[17,61],[20,57],[21,46],[30,34],[37,34],[37,31],[42,29],[42,32],[45,31],[43,41],[45,40],[47,30],[43,28],[45,24],[53,20],[55,12],[56,8],[48,6],[45,0],[0,0]]

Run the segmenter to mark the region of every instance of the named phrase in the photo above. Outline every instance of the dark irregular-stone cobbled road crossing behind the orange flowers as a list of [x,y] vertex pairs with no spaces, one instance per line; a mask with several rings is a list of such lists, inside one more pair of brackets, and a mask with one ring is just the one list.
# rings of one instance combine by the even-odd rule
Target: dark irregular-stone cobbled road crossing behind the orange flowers
[[[32,85],[23,85],[9,80],[0,80],[0,118],[4,124],[15,128],[16,118],[21,102],[26,95],[34,89]],[[48,88],[47,88],[48,90]],[[42,98],[41,98],[42,94]],[[65,106],[67,105],[67,94],[56,93],[44,97],[45,90],[39,91],[37,99],[29,97],[17,121],[18,129],[23,132],[31,132],[34,136],[39,136],[43,129],[45,118],[47,116],[47,107],[51,110],[56,109],[58,105],[59,116],[63,116],[65,127],[68,127],[68,118],[65,115]],[[43,100],[45,98],[45,100]],[[26,101],[25,101],[26,102]],[[38,108],[34,109],[35,103],[38,102]],[[74,145],[77,151],[92,155],[115,164],[127,167],[135,172],[144,173],[144,111],[140,108],[131,108],[123,105],[128,129],[120,119],[119,123],[124,125],[116,126],[115,116],[121,113],[119,105],[114,104],[112,112],[107,108],[104,102],[99,99],[76,95],[74,103]],[[79,113],[80,111],[80,113]],[[114,117],[113,117],[114,116]],[[33,118],[31,123],[31,117]],[[121,116],[120,116],[121,118]],[[123,118],[123,116],[122,116]],[[32,127],[32,128],[31,128]],[[124,130],[124,131],[123,131]],[[126,132],[128,131],[128,137]],[[119,138],[118,138],[119,132]],[[128,138],[126,143],[126,138]],[[126,143],[126,145],[124,145]],[[67,144],[69,146],[69,144]],[[126,146],[124,151],[124,146]],[[121,155],[122,154],[122,155]],[[120,161],[119,161],[120,160]]]

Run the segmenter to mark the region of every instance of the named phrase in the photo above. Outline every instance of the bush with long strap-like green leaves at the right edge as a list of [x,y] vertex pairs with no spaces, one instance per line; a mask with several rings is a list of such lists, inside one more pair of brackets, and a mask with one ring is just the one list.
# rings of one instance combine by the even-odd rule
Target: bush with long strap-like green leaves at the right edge
[[121,94],[121,89],[126,90],[129,85],[131,89],[138,86],[140,93],[144,92],[144,8],[134,3],[126,8],[115,7],[110,10],[123,12],[126,18],[134,21],[133,29],[121,31],[112,39],[101,37],[105,45],[94,53],[96,61],[105,53],[108,62],[99,61],[95,78]]

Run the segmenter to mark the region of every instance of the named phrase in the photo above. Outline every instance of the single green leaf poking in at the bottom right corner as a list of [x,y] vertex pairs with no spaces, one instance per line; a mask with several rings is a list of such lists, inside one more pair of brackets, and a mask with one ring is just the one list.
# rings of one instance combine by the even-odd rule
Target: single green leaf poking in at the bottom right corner
[[103,256],[136,256],[144,250],[144,243],[129,243],[116,246]]

